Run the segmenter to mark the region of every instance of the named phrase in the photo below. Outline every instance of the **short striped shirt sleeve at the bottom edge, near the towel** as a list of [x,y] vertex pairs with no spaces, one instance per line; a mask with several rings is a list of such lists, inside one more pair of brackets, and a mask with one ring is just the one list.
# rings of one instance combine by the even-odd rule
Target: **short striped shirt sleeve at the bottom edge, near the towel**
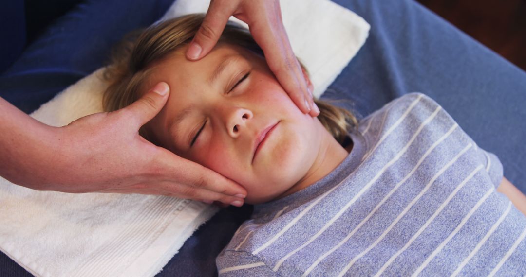
[[226,250],[216,259],[219,276],[280,276],[255,255],[246,251]]

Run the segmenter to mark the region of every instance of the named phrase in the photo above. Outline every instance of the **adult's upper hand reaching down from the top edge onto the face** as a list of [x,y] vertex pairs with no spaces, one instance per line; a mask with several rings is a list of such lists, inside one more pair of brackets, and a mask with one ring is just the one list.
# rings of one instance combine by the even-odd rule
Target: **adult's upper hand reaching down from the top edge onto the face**
[[203,25],[186,52],[190,60],[203,58],[216,45],[230,16],[248,24],[265,53],[270,70],[300,110],[317,116],[312,84],[305,80],[281,19],[278,0],[211,0]]

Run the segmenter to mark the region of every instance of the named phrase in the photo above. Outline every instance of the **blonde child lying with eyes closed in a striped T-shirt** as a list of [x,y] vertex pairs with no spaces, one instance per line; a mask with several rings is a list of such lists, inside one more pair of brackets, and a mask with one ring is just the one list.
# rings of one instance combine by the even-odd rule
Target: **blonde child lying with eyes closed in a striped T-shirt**
[[240,28],[186,60],[201,21],[145,30],[108,68],[104,105],[167,82],[168,102],[140,134],[247,189],[257,205],[217,258],[220,275],[526,273],[526,217],[495,190],[513,188],[499,159],[436,102],[410,93],[358,123],[317,101],[311,118]]

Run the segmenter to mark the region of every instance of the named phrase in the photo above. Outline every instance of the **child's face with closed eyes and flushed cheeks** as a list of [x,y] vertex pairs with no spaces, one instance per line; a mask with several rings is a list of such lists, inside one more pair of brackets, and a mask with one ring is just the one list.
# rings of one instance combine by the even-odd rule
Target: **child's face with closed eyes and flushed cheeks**
[[155,63],[144,84],[170,86],[147,125],[158,143],[244,186],[251,204],[305,178],[327,131],[297,108],[265,60],[226,44],[199,61],[188,61],[185,50]]

